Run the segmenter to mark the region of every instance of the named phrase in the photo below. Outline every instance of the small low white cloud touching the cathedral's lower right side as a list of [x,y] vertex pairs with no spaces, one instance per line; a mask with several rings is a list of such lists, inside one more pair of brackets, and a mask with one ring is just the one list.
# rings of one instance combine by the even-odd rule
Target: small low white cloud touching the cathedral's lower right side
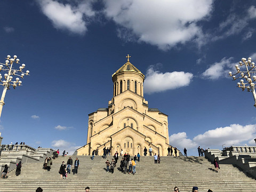
[[197,147],[197,143],[191,139],[187,138],[187,133],[180,132],[172,134],[169,137],[170,145],[173,147],[177,147],[182,151],[186,147],[186,149],[192,149]]

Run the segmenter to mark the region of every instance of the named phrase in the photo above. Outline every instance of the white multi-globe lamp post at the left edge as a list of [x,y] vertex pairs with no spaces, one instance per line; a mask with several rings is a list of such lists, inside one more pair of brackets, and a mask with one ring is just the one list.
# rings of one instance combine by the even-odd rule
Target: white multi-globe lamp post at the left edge
[[[5,58],[6,61],[5,61],[5,64],[4,63],[0,63],[0,71],[3,71],[3,72],[6,72],[4,74],[4,79],[2,80],[2,74],[0,74],[0,85],[3,85],[4,86],[4,90],[3,90],[3,93],[2,93],[2,97],[1,97],[1,100],[0,100],[0,117],[1,117],[1,114],[2,114],[2,109],[3,109],[3,106],[4,106],[4,97],[5,97],[5,94],[6,94],[6,91],[10,89],[10,86],[13,86],[13,89],[15,89],[17,86],[20,86],[21,85],[21,81],[20,81],[20,78],[16,78],[15,81],[13,79],[13,76],[19,76],[21,78],[23,78],[25,75],[28,75],[29,74],[29,70],[26,71],[26,73],[24,73],[22,71],[22,69],[25,68],[25,64],[20,64],[19,63],[19,59],[17,58],[17,55],[14,55],[13,58],[11,58],[10,55],[7,55],[7,58]],[[15,69],[14,65],[20,65],[19,69]]]

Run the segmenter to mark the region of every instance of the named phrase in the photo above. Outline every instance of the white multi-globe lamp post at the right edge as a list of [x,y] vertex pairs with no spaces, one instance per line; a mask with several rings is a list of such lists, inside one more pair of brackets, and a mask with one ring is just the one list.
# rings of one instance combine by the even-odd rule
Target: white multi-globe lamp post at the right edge
[[[229,76],[233,77],[233,81],[238,78],[241,79],[240,82],[237,83],[237,87],[241,88],[242,91],[247,89],[248,92],[252,92],[254,98],[254,107],[256,107],[256,93],[254,83],[256,82],[255,63],[252,62],[252,58],[248,58],[248,60],[246,60],[246,58],[242,58],[242,61],[239,61],[239,65],[235,65],[235,68],[237,73],[232,75],[232,72],[229,71]],[[238,75],[238,77],[236,77],[236,75]]]

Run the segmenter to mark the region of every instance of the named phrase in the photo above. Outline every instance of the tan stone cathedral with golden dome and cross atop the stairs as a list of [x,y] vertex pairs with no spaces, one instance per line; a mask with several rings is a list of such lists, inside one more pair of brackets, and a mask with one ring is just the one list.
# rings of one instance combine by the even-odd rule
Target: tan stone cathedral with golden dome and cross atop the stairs
[[[146,147],[153,154],[167,156],[169,145],[168,116],[157,108],[149,108],[143,97],[145,75],[129,61],[113,75],[113,98],[107,108],[89,114],[87,144],[77,149],[77,155],[91,155],[93,150],[111,155],[121,149],[130,155],[143,155]],[[148,153],[149,154],[149,153]],[[179,150],[178,150],[179,155]]]

